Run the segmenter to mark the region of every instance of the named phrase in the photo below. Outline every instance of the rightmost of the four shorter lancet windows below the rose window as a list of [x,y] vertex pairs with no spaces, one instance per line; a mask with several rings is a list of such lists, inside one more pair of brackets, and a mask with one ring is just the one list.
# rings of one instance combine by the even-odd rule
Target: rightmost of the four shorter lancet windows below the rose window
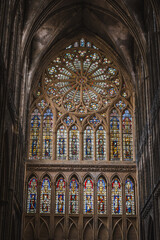
[[106,131],[103,126],[99,126],[96,131],[96,159],[106,159]]

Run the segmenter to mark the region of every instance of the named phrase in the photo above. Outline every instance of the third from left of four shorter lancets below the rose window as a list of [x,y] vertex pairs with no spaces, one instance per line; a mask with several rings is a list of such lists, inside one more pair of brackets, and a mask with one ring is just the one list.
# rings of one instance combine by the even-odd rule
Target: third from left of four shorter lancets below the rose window
[[90,126],[87,126],[84,131],[84,159],[90,160],[93,159],[93,129]]

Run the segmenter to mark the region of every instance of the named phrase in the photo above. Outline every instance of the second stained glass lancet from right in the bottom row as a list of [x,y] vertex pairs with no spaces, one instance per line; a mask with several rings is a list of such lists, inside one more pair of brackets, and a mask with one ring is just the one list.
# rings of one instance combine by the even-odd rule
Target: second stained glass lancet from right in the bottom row
[[112,181],[112,214],[122,214],[122,187],[117,177]]

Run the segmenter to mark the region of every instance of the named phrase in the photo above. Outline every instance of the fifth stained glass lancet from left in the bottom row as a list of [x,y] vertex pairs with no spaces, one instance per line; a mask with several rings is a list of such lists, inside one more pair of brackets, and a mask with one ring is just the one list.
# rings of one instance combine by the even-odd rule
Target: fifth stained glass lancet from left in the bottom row
[[93,213],[93,207],[93,181],[90,177],[87,177],[84,181],[84,213]]

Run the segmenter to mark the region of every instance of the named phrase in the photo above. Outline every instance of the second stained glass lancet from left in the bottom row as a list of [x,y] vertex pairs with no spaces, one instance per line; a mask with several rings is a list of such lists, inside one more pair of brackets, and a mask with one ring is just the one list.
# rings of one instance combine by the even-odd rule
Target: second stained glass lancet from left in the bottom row
[[40,213],[50,213],[51,183],[48,177],[44,177],[41,185]]

